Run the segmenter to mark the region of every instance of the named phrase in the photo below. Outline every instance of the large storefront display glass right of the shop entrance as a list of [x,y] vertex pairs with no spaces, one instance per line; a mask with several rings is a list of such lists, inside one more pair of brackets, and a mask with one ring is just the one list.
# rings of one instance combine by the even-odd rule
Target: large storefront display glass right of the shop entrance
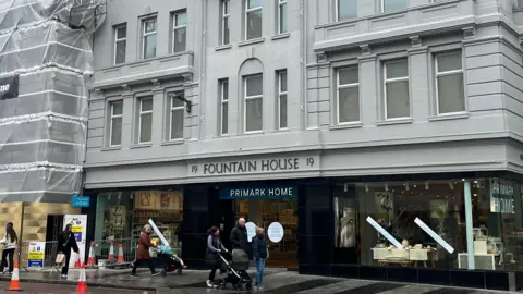
[[466,269],[465,183],[471,191],[475,268],[520,269],[521,188],[500,179],[337,184],[335,246],[341,259],[367,266]]

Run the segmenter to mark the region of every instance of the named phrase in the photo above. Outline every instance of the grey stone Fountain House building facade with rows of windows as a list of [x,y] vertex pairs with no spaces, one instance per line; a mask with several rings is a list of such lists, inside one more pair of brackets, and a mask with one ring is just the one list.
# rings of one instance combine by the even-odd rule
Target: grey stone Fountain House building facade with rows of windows
[[[408,224],[417,216],[453,249],[436,241],[416,260],[476,269],[481,281],[479,270],[518,273],[522,25],[506,0],[113,0],[94,38],[85,189],[180,188],[184,218],[204,218],[183,229],[191,235],[214,222],[214,188],[291,183],[302,272],[335,274],[338,256],[357,277],[391,279],[362,270],[389,262],[364,233],[367,217],[430,248]],[[340,241],[350,216],[357,253],[340,248],[352,244]],[[484,226],[503,244],[490,240],[485,260],[473,244]]]

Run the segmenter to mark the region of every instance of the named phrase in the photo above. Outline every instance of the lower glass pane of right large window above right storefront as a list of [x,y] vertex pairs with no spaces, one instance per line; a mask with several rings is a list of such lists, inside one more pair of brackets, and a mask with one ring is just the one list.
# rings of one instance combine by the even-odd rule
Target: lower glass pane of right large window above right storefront
[[465,111],[463,74],[443,75],[437,81],[439,113]]

